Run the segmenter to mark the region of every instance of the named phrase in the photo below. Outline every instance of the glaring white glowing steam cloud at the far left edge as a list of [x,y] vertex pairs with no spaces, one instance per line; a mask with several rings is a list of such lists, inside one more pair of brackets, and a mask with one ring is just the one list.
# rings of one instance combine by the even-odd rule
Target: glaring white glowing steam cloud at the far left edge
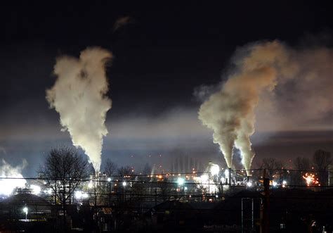
[[[0,165],[0,194],[10,195],[16,187],[25,187],[26,180],[21,172],[27,166],[27,160],[22,160],[22,165],[11,166],[6,160],[2,159]],[[13,178],[13,179],[11,179]]]

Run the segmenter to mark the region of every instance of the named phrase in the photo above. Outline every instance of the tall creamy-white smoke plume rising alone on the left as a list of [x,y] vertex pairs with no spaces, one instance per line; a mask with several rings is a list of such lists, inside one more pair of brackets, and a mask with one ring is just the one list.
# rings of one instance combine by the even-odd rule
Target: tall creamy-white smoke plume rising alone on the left
[[105,64],[112,53],[98,47],[81,51],[78,58],[57,58],[54,86],[46,90],[51,108],[60,114],[63,130],[68,130],[74,146],[83,149],[96,170],[100,168],[105,118],[111,108],[107,98]]

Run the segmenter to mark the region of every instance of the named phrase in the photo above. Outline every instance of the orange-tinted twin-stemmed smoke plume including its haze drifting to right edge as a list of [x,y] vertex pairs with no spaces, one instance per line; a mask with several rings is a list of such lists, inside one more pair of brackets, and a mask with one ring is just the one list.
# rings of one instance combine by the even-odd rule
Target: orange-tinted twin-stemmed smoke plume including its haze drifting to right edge
[[[266,112],[263,120],[279,125],[290,120],[299,123],[299,113],[293,108],[300,106],[308,109],[301,110],[308,113],[304,122],[332,114],[332,54],[332,49],[327,48],[296,51],[278,41],[252,44],[237,51],[232,75],[199,110],[200,120],[214,131],[214,143],[219,144],[229,168],[234,147],[240,150],[247,172],[251,168],[254,151],[250,137],[255,131],[256,112]],[[290,112],[295,113],[294,119],[290,119]]]

